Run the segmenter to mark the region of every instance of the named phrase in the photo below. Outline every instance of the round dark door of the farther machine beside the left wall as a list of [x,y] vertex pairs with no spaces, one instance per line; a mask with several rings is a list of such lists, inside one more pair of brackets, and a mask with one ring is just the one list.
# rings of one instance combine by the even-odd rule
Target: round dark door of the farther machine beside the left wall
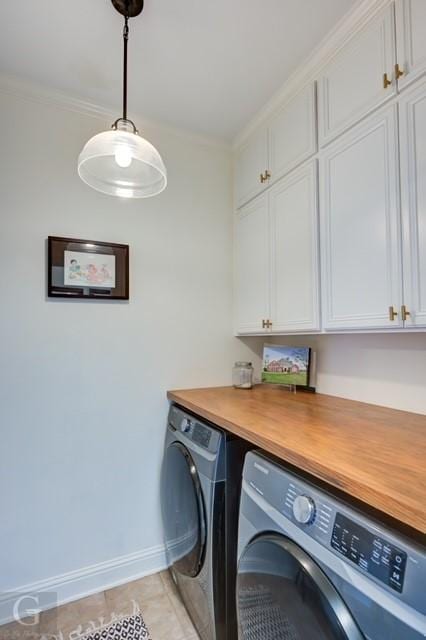
[[197,469],[180,442],[166,450],[161,492],[169,561],[179,573],[195,577],[204,558],[205,510]]

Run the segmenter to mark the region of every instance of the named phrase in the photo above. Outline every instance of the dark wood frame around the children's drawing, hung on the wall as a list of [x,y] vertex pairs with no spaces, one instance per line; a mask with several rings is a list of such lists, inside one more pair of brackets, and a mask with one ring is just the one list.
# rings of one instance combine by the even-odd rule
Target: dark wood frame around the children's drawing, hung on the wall
[[[65,283],[65,251],[97,256],[105,255],[106,259],[109,260],[114,256],[114,285],[108,287],[105,284],[97,283],[95,278],[97,269],[95,265],[89,265],[89,273],[93,267],[93,282],[76,283],[75,285]],[[72,260],[71,263],[72,262],[76,263],[75,260]],[[70,269],[70,271],[71,270],[72,269]],[[49,298],[128,300],[129,245],[117,244],[115,242],[49,236],[47,239],[47,295]]]

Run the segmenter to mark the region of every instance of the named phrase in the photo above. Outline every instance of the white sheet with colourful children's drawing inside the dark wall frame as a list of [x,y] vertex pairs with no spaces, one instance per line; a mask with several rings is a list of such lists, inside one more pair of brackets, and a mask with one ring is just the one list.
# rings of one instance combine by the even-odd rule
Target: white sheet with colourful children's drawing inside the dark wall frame
[[115,256],[104,253],[64,251],[64,285],[67,287],[115,287]]

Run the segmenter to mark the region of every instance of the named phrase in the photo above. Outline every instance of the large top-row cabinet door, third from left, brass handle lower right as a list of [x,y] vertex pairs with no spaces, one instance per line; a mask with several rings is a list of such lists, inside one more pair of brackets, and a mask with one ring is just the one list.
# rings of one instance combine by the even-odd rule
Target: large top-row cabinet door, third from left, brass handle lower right
[[[319,80],[319,139],[327,144],[396,93],[393,7],[356,34]],[[383,74],[391,85],[384,87]]]

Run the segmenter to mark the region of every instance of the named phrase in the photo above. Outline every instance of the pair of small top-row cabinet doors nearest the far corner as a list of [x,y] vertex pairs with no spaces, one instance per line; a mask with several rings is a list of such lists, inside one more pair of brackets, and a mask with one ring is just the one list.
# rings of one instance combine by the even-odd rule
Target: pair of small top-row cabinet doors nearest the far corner
[[317,150],[315,84],[288,100],[235,154],[235,203],[241,207]]

